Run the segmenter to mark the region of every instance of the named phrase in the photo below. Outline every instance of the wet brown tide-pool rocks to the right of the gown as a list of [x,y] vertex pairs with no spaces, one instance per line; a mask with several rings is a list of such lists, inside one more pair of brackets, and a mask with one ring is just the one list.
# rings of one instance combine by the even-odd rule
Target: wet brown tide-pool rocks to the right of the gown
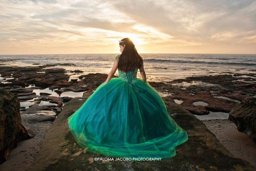
[[[241,100],[256,95],[256,74],[234,75],[247,77],[220,74],[187,77],[166,83],[150,82],[150,84],[158,91],[165,92],[170,98],[184,101],[181,106],[193,114],[207,115],[210,111],[229,113]],[[241,79],[246,79],[247,82]],[[193,105],[197,101],[208,105]]]

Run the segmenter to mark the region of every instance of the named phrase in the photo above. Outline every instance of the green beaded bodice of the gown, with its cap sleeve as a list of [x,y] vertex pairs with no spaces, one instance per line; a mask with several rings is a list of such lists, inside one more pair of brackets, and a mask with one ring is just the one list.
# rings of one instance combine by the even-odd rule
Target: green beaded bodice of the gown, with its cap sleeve
[[[115,59],[119,60],[119,55],[117,55],[115,57]],[[120,69],[118,69],[118,78],[120,78],[121,80],[126,81],[127,83],[134,83],[137,80],[137,72],[138,72],[139,68],[135,68],[134,70],[128,71],[128,72],[124,72],[121,71]]]

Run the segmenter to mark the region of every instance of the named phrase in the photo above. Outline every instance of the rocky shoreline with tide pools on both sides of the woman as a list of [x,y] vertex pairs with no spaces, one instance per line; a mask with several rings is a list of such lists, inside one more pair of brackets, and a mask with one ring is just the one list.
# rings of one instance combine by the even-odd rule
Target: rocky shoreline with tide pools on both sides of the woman
[[[44,140],[47,130],[52,127],[53,121],[56,116],[58,118],[63,106],[74,99],[73,97],[78,95],[76,93],[80,93],[80,97],[88,97],[107,78],[107,74],[85,75],[82,74],[82,71],[50,68],[52,66],[54,65],[30,68],[0,66],[0,89],[12,92],[18,97],[21,102],[22,124],[26,129],[36,129],[36,136],[32,138],[34,142],[31,142],[31,145],[34,143],[33,146],[36,143],[36,148],[32,149],[34,152],[32,155],[29,154],[30,158],[27,157],[30,162],[20,163],[19,167],[22,168],[19,168],[20,170],[26,170],[30,166],[41,149],[40,144]],[[81,75],[77,79],[70,80],[67,73]],[[256,79],[255,74],[223,73],[221,75],[187,77],[170,82],[152,81],[149,83],[160,92],[163,98],[174,100],[194,115],[207,116],[211,112],[228,114],[244,98],[253,97]],[[35,139],[36,137],[37,139]],[[21,150],[22,146],[18,147]],[[29,149],[29,147],[27,148]],[[12,156],[12,159],[15,160],[15,155]],[[251,159],[248,158],[248,160],[252,163]],[[11,163],[10,161],[9,163]],[[252,164],[256,165],[256,163]],[[5,166],[8,167],[8,160],[0,165],[0,168]],[[13,169],[15,168],[17,166],[13,167]]]

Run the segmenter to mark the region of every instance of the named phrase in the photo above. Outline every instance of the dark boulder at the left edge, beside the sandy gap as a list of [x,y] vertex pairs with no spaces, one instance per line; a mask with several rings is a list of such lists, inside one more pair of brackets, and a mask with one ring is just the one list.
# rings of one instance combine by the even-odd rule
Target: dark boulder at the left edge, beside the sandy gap
[[35,136],[21,124],[20,102],[9,91],[0,89],[0,164],[6,161],[17,143]]

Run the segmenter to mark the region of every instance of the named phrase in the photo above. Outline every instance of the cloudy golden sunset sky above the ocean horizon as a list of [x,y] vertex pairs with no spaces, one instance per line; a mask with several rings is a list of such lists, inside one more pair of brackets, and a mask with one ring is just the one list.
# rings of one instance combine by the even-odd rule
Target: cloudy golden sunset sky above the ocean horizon
[[0,54],[256,53],[255,0],[0,0]]

